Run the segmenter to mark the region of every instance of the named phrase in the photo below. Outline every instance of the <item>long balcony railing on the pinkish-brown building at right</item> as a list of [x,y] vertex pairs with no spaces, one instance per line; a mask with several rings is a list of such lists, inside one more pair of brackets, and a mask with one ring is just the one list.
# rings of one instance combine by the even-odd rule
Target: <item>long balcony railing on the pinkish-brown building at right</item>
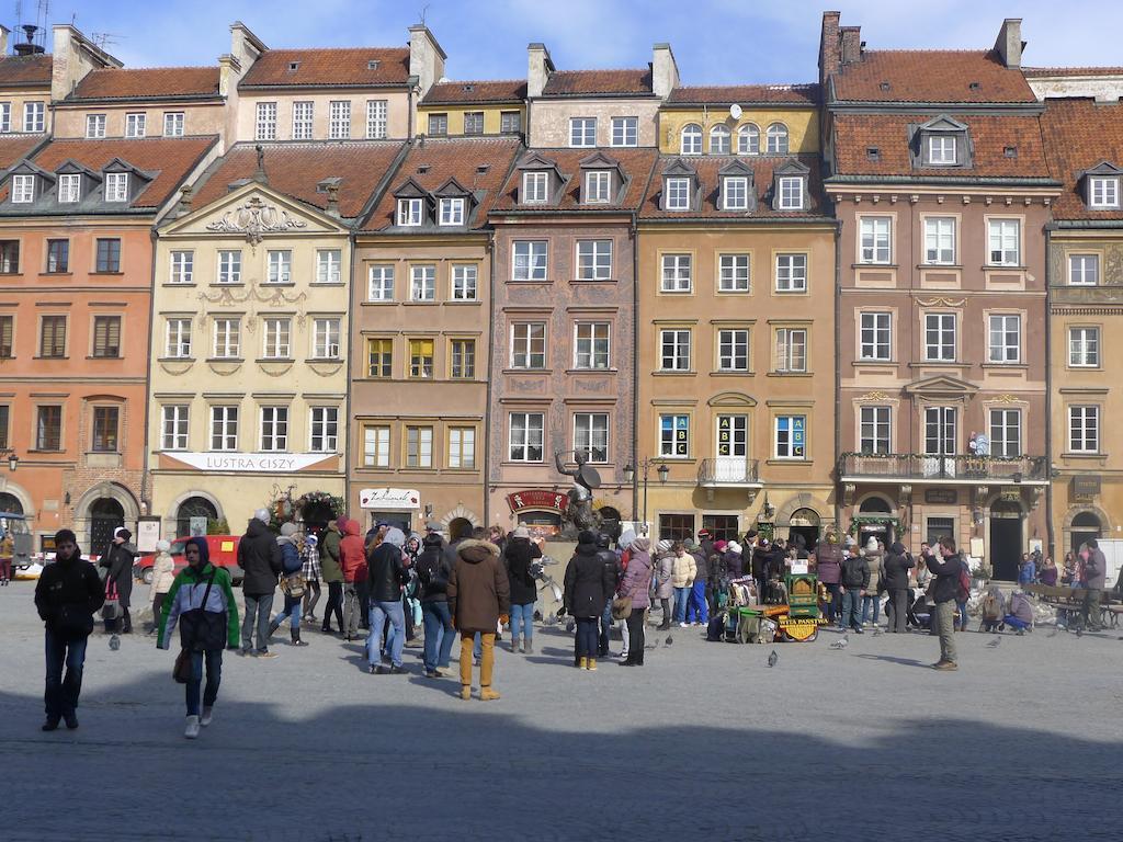
[[1049,479],[1043,456],[929,456],[926,454],[842,454],[842,479],[884,477],[930,482],[1044,483]]

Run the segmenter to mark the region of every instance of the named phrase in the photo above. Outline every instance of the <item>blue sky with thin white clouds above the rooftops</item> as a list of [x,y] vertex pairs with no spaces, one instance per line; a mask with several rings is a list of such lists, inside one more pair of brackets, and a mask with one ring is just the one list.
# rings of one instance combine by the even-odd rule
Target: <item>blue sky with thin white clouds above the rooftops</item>
[[[4,2],[7,11],[2,11]],[[36,0],[21,0],[34,22]],[[824,8],[860,26],[870,49],[987,48],[1003,18],[1021,17],[1028,66],[1123,65],[1123,3],[1110,0],[51,0],[48,24],[103,34],[128,67],[211,65],[229,25],[271,47],[395,46],[424,15],[456,80],[524,79],[526,47],[542,42],[558,70],[642,67],[669,42],[683,84],[812,82]],[[42,0],[40,0],[42,3]],[[16,0],[0,0],[16,21]]]

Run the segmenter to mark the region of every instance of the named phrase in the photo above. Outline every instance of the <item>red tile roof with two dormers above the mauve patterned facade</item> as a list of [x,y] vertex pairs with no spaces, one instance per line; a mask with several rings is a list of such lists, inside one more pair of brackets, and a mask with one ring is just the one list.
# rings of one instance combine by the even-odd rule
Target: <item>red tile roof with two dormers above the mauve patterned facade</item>
[[[585,158],[601,154],[615,161],[623,171],[624,179],[628,180],[628,189],[619,204],[596,204],[588,205],[581,203],[578,195],[581,190],[581,162]],[[495,211],[531,211],[531,212],[587,212],[603,213],[604,211],[631,211],[639,207],[647,192],[647,183],[651,177],[652,168],[659,158],[656,149],[531,149],[520,156],[520,161],[538,155],[546,161],[553,161],[565,179],[565,186],[562,199],[557,204],[535,204],[522,205],[518,203],[518,189],[520,183],[519,171],[511,173],[506,184],[495,202]],[[518,164],[517,164],[518,165]]]

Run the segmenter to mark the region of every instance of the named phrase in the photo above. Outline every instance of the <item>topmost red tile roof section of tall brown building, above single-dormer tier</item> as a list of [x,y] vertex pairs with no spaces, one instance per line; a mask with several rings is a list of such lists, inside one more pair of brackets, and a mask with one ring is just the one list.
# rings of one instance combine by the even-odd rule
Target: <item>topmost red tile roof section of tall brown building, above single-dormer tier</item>
[[834,99],[841,102],[1037,101],[1021,71],[1007,70],[990,52],[866,51],[832,80]]

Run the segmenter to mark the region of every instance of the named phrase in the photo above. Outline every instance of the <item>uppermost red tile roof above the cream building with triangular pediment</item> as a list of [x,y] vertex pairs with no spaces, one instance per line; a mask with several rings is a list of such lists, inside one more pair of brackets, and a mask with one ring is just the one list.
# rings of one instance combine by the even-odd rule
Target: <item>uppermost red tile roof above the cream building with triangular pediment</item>
[[[374,70],[372,61],[378,63]],[[294,62],[296,70],[290,70]],[[404,86],[409,75],[408,47],[270,49],[254,62],[238,88]]]

